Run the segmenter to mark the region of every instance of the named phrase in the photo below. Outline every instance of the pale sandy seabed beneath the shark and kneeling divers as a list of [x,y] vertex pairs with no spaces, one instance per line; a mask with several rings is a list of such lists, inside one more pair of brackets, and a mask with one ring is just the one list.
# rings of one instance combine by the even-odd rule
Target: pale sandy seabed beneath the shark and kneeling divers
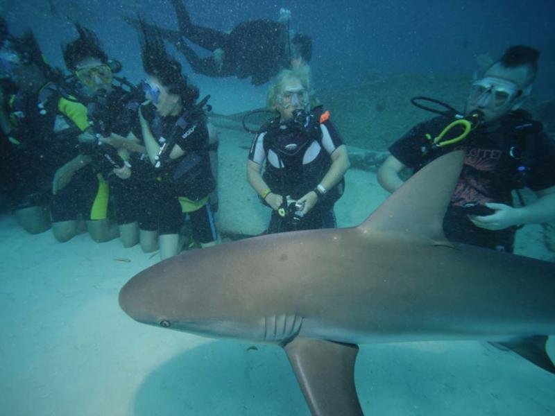
[[[268,214],[244,184],[249,141],[221,132],[220,184],[233,192],[221,192],[219,223],[229,232],[256,231]],[[369,172],[352,170],[347,183],[342,226],[386,197]],[[56,243],[8,214],[0,241],[1,415],[309,414],[279,347],[165,331],[123,313],[119,289],[157,261],[138,246],[87,234]],[[525,227],[518,247],[547,255],[540,227]],[[555,377],[486,343],[362,345],[355,377],[366,415],[555,414]]]

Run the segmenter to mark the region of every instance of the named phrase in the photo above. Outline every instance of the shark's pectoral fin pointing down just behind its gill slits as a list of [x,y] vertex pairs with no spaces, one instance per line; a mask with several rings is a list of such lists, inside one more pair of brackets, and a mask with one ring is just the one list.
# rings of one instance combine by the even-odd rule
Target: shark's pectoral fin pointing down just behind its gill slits
[[284,349],[313,415],[363,414],[355,389],[357,345],[295,338]]

